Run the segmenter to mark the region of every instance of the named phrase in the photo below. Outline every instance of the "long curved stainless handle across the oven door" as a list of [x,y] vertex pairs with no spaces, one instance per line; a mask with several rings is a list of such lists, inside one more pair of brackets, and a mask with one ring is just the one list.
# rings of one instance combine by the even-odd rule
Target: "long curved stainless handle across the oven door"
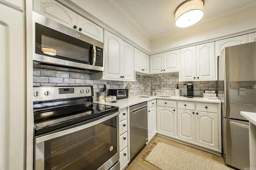
[[35,142],[36,142],[36,144],[38,144],[38,143],[41,143],[41,142],[44,142],[44,141],[48,141],[50,139],[54,139],[54,138],[57,138],[57,137],[61,137],[61,136],[64,136],[64,135],[68,135],[70,133],[74,133],[74,132],[86,129],[88,127],[92,127],[94,125],[97,125],[97,124],[102,123],[102,122],[104,122],[108,119],[111,119],[112,117],[115,117],[115,116],[119,115],[119,113],[120,113],[120,111],[118,111],[116,113],[113,113],[112,115],[103,117],[102,119],[87,123],[85,125],[74,127],[72,129],[66,129],[64,131],[59,131],[59,132],[52,133],[52,134],[49,134],[49,135],[45,135],[45,136],[42,136],[42,137],[36,137]]

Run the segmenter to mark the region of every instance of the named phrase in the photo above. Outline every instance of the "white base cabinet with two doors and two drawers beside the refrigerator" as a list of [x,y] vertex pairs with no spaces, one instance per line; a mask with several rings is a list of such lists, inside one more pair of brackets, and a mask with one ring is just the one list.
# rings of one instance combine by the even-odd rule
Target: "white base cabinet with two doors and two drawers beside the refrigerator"
[[218,104],[178,102],[178,138],[219,150]]

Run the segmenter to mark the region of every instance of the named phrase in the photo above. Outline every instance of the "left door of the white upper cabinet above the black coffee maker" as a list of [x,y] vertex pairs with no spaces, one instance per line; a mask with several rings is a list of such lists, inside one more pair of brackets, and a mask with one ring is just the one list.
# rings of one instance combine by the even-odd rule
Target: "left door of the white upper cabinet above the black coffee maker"
[[196,80],[196,46],[180,49],[180,81]]

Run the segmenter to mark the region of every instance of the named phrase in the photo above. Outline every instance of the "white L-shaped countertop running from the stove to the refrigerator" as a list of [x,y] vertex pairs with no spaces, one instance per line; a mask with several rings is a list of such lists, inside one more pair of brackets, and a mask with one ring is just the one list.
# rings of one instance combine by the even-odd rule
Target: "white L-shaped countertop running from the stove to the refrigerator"
[[[143,97],[146,96],[146,97]],[[208,102],[208,103],[221,103],[220,100],[214,100],[214,99],[208,99],[208,98],[201,98],[201,97],[194,97],[194,98],[187,98],[184,96],[147,96],[147,95],[138,95],[138,96],[132,96],[131,98],[127,98],[127,99],[121,99],[121,100],[117,100],[116,103],[112,103],[112,102],[94,102],[94,103],[99,103],[99,104],[105,104],[105,105],[109,105],[109,106],[117,106],[119,107],[119,109],[125,108],[125,107],[129,107],[135,104],[139,104],[142,102],[148,102],[151,100],[155,100],[155,99],[162,99],[162,100],[180,100],[180,101],[190,101],[190,102]]]

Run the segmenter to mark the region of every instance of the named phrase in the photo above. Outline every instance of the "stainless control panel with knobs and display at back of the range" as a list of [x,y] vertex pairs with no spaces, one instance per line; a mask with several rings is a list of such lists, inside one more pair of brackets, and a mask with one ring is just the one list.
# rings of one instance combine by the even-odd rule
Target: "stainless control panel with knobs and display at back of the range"
[[91,97],[93,96],[92,86],[34,86],[33,102]]

